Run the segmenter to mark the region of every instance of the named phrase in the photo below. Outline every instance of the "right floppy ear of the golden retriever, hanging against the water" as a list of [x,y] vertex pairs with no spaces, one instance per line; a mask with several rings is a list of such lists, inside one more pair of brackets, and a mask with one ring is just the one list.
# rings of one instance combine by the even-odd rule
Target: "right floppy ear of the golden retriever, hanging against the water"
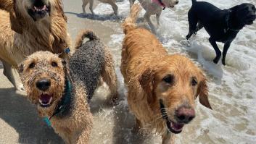
[[210,103],[208,101],[208,87],[207,87],[207,80],[205,76],[203,76],[203,79],[201,82],[199,82],[199,86],[197,88],[197,96],[199,96],[199,102],[209,108],[212,109],[210,106]]

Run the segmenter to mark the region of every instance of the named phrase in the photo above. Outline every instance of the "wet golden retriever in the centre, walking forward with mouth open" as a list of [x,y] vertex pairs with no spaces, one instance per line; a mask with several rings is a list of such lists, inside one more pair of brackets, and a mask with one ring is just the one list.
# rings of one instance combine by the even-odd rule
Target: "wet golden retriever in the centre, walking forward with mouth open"
[[162,143],[171,143],[195,117],[194,100],[208,102],[207,80],[186,56],[168,55],[160,41],[135,21],[141,7],[134,4],[123,23],[121,72],[128,87],[128,105],[136,116],[137,127],[156,130]]

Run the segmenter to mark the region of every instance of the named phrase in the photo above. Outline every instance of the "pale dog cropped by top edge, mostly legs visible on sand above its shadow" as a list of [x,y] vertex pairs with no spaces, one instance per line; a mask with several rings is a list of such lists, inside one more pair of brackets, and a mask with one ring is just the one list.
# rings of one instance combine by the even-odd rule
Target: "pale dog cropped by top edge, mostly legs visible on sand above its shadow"
[[[82,1],[83,1],[83,5],[82,5],[83,14],[86,14],[86,5],[88,3],[90,3],[89,9],[91,10],[91,14],[94,14],[94,9],[93,9],[94,0],[82,0]],[[115,0],[99,0],[99,1],[101,1],[104,4],[110,4],[112,9],[114,10],[114,14],[117,15],[118,7],[117,7],[117,4],[115,4],[116,2]]]

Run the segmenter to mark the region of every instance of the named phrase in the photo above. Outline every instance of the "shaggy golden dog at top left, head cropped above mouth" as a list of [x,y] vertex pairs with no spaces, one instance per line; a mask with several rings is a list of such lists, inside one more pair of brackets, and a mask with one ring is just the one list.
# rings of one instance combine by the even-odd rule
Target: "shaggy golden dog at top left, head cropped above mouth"
[[51,51],[64,59],[72,52],[61,0],[0,0],[0,59],[4,75],[17,90],[12,67],[36,51]]

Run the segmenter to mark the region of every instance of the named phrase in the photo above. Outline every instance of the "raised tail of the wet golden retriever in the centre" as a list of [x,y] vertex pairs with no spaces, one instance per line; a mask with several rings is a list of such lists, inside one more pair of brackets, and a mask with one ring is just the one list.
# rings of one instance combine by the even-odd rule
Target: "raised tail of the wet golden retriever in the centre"
[[139,17],[139,12],[141,12],[141,6],[139,4],[133,4],[131,7],[130,15],[123,22],[123,33],[128,33],[131,30],[136,29],[135,24],[137,18]]

